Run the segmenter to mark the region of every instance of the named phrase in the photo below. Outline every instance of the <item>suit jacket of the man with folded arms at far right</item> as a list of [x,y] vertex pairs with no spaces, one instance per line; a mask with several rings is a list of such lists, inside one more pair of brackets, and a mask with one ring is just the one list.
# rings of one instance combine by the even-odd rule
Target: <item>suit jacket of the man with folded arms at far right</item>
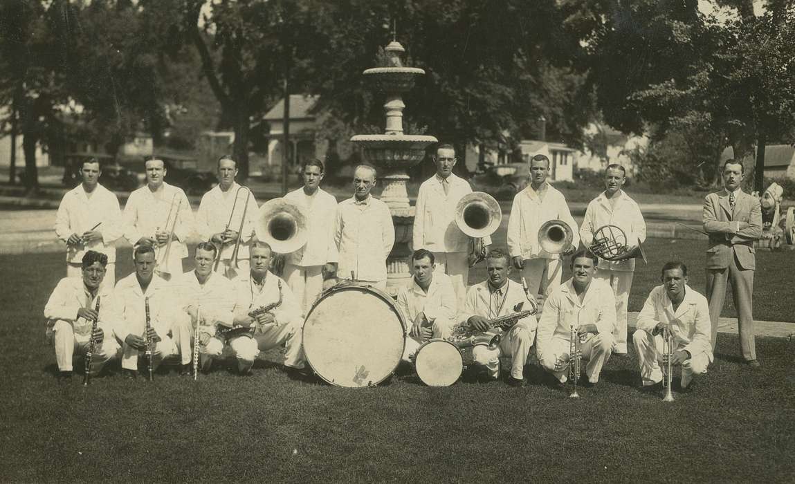
[[[701,215],[704,231],[709,234],[707,269],[724,269],[731,257],[743,269],[756,269],[754,240],[762,236],[762,206],[759,199],[739,192],[735,210],[729,208],[729,193],[724,188],[704,199]],[[748,227],[734,233],[735,222],[747,222]]]

